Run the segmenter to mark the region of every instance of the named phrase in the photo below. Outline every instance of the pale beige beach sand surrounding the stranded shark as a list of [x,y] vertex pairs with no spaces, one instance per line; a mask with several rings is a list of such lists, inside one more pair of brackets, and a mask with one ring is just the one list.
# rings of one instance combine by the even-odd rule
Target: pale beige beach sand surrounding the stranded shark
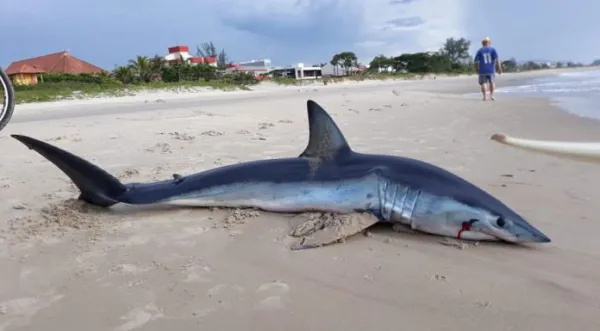
[[[510,75],[500,84],[509,84]],[[0,330],[598,330],[597,165],[493,142],[600,140],[546,100],[482,102],[474,77],[18,106],[0,133]],[[353,149],[418,158],[494,194],[553,239],[458,242],[375,226],[291,251],[298,216],[74,200],[41,138],[124,181],[298,155],[305,103]]]

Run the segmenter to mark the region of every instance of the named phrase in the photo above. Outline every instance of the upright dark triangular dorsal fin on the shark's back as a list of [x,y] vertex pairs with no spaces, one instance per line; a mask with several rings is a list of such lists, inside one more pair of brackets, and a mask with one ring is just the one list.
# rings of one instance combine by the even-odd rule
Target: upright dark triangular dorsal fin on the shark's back
[[342,131],[325,109],[312,100],[308,100],[306,106],[310,133],[308,146],[300,157],[334,160],[351,153],[352,150]]

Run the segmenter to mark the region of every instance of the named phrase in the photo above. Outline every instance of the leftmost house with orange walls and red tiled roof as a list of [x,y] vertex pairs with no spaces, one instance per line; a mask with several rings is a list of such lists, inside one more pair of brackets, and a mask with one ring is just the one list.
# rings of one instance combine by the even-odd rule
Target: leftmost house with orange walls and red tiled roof
[[67,51],[15,61],[6,68],[6,75],[15,85],[35,85],[45,73],[99,74],[104,69],[80,60]]

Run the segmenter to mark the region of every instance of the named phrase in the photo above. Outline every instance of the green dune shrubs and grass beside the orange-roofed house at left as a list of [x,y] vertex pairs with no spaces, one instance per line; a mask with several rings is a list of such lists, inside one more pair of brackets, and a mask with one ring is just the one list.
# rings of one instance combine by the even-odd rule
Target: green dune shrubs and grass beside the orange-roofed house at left
[[[207,52],[216,52],[212,43],[205,43],[202,47]],[[221,61],[222,66],[226,66],[227,59],[225,50],[217,54],[217,61]],[[190,65],[183,61],[167,65],[164,58],[155,55],[152,58],[137,56],[129,60],[127,65],[116,67],[112,73],[43,74],[36,85],[15,86],[15,93],[17,103],[27,103],[134,95],[142,90],[195,91],[200,87],[247,90],[249,85],[257,83],[252,74],[225,74],[207,64]]]

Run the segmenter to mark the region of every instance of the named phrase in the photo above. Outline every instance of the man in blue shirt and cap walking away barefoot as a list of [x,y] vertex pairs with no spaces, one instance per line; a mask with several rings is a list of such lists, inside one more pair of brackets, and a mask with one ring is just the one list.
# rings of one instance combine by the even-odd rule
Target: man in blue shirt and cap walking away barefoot
[[486,100],[485,85],[486,83],[490,87],[490,99],[494,99],[494,85],[495,85],[495,72],[498,68],[498,75],[502,74],[502,64],[498,58],[496,49],[492,46],[490,37],[485,37],[481,41],[481,48],[475,54],[475,71],[479,74],[479,86],[481,86],[481,93],[483,94],[483,101]]

